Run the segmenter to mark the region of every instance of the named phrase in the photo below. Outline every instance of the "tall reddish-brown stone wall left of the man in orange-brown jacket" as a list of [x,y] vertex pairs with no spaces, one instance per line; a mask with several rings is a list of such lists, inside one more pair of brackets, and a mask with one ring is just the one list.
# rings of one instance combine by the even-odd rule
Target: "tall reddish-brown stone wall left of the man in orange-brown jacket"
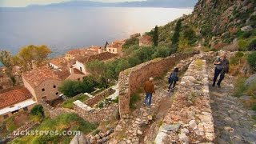
[[150,77],[158,77],[165,74],[170,67],[181,59],[186,59],[194,54],[173,54],[167,58],[156,58],[149,62],[124,70],[119,74],[119,111],[123,116],[130,111],[130,94],[138,90]]

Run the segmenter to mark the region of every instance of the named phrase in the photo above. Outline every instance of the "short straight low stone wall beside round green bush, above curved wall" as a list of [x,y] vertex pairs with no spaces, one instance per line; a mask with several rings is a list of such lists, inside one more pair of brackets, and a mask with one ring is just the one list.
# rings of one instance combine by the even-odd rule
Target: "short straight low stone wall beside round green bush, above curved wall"
[[86,105],[93,107],[95,104],[100,102],[103,98],[106,98],[110,94],[114,94],[114,91],[112,88],[108,88],[106,90],[103,90],[101,93],[96,94],[93,98],[87,99],[86,100]]

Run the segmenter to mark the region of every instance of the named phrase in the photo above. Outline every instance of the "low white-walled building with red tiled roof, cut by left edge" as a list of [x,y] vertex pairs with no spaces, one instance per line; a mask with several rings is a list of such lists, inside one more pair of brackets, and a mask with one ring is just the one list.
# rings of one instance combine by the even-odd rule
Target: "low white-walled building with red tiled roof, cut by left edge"
[[0,94],[0,122],[18,111],[30,111],[36,103],[26,88]]

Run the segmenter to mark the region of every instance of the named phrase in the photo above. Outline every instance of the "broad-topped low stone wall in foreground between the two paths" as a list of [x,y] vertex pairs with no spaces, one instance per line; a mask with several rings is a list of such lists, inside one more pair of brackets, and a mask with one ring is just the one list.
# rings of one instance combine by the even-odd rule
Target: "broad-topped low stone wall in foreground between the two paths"
[[194,60],[190,64],[155,142],[214,142],[214,120],[210,110],[205,60]]

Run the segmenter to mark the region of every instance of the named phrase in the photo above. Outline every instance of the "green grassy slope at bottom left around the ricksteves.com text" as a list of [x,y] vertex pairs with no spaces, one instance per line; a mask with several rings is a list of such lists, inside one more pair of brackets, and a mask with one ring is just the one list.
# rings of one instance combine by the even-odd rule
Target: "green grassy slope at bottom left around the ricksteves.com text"
[[69,143],[74,135],[62,136],[64,130],[79,130],[84,134],[95,130],[98,127],[95,123],[84,121],[77,114],[62,114],[54,119],[47,119],[34,130],[58,130],[59,134],[27,135],[22,138],[15,138],[9,143]]

